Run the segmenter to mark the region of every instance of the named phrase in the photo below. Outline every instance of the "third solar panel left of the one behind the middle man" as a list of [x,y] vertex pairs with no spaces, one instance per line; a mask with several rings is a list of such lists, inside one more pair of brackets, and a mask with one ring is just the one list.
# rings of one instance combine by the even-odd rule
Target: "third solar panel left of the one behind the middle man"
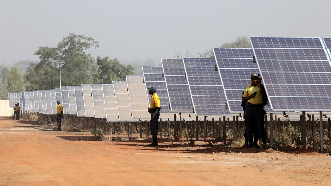
[[112,84],[102,84],[107,121],[118,121],[118,110]]

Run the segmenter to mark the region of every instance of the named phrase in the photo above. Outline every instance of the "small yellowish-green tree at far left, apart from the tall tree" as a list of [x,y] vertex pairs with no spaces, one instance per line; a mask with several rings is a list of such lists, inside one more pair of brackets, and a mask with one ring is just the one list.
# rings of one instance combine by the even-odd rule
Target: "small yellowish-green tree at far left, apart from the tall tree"
[[[8,92],[24,92],[25,79],[22,71],[17,67],[12,67],[7,77],[7,90]],[[7,92],[7,94],[8,94]]]

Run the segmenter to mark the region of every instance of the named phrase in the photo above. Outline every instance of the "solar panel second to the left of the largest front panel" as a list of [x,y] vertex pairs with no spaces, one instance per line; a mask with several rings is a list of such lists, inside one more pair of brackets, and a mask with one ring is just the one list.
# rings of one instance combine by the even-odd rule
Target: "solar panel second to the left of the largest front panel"
[[230,115],[225,110],[225,95],[221,78],[215,70],[215,58],[183,58],[185,73],[198,116]]

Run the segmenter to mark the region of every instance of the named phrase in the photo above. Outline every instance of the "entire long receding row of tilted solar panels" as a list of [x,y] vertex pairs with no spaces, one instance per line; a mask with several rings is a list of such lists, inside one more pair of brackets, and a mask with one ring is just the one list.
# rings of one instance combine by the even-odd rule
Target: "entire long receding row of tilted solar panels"
[[[112,107],[107,105],[103,89],[106,85],[82,85],[80,105],[76,98],[77,109],[85,107],[84,111],[79,110],[85,116],[103,117],[107,109],[113,109],[110,110],[112,115],[120,120],[149,118],[147,88],[155,86],[161,99],[162,118],[171,118],[172,113],[178,112],[193,118],[194,114],[217,117],[242,113],[243,89],[250,84],[250,75],[258,72],[270,103],[270,107],[265,108],[267,112],[331,110],[331,53],[328,49],[331,38],[250,37],[250,40],[253,49],[213,48],[215,58],[162,59],[162,67],[142,67],[143,76],[127,75],[121,87],[116,84],[120,81],[113,81],[113,85],[108,85],[113,86],[110,92],[114,92],[115,101],[109,102],[113,103]],[[84,86],[91,86],[91,89]],[[69,87],[68,97],[77,97],[75,86],[73,90]],[[61,97],[64,107],[70,102],[65,89],[61,87],[61,93],[65,93]],[[70,91],[74,93],[69,94]],[[126,93],[128,98],[123,98]],[[120,111],[122,109],[126,111]],[[125,117],[121,116],[123,114]]]

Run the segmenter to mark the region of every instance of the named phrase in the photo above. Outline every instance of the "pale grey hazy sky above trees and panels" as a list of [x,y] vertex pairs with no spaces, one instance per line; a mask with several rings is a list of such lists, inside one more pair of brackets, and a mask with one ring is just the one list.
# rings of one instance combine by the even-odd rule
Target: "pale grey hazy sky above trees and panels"
[[331,37],[330,7],[330,0],[0,0],[0,64],[38,60],[39,46],[56,47],[70,32],[100,42],[88,50],[93,57],[126,61],[194,56],[241,35]]

